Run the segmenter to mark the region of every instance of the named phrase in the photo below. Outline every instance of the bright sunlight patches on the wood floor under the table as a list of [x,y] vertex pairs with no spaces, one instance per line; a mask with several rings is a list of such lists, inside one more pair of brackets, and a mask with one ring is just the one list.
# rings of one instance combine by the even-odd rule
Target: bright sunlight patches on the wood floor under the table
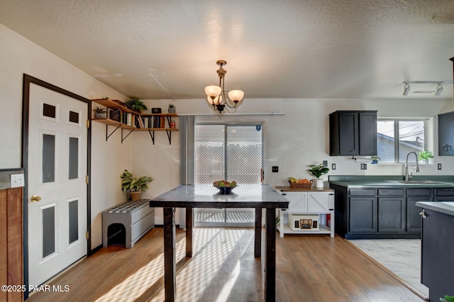
[[[192,258],[186,259],[177,272],[178,301],[227,301],[233,285],[240,275],[240,257],[247,251],[253,257],[253,250],[248,250],[253,232],[242,238],[245,230],[223,228],[196,228],[193,231]],[[177,262],[184,259],[186,241],[176,244]],[[229,255],[236,253],[234,261]],[[232,269],[233,268],[233,269]],[[225,270],[222,280],[218,272]],[[128,279],[104,294],[97,302],[135,301],[164,275],[164,255],[161,254],[145,267],[135,272]],[[216,276],[217,275],[217,276]],[[206,291],[212,284],[219,286],[218,296]],[[247,286],[247,284],[245,284]],[[154,295],[151,301],[164,301],[164,287]]]

